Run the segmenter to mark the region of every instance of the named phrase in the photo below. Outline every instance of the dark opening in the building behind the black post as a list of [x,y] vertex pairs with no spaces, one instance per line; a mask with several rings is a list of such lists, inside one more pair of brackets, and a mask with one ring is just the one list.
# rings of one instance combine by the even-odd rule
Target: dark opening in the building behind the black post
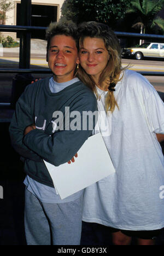
[[[20,7],[21,4],[17,3],[17,13],[16,13],[16,25],[20,24]],[[32,4],[31,7],[31,26],[36,27],[48,27],[50,22],[57,21],[57,6],[52,5],[39,5]],[[45,39],[45,32],[34,31],[31,34],[31,38]]]

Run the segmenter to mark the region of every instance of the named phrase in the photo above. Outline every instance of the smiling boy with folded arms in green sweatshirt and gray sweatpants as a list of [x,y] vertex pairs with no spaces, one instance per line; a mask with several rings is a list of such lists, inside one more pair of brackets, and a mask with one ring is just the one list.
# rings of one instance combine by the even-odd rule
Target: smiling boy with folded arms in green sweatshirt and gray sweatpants
[[[92,114],[87,112],[97,110],[97,101],[92,91],[75,78],[79,64],[75,25],[51,24],[46,37],[53,77],[27,86],[16,104],[9,129],[11,143],[24,158],[27,174],[26,240],[27,245],[50,245],[51,241],[53,245],[79,245],[83,190],[61,200],[43,159],[59,166],[73,158],[92,134]],[[80,118],[76,119],[77,127],[71,129],[74,111],[80,113]],[[63,120],[58,118],[60,113]]]

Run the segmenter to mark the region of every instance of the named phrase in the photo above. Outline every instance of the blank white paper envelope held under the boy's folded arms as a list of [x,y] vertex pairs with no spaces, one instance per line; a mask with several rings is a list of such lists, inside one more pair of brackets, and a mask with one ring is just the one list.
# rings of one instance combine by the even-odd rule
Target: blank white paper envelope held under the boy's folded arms
[[115,172],[101,133],[87,139],[79,149],[75,162],[57,167],[44,162],[61,199]]

